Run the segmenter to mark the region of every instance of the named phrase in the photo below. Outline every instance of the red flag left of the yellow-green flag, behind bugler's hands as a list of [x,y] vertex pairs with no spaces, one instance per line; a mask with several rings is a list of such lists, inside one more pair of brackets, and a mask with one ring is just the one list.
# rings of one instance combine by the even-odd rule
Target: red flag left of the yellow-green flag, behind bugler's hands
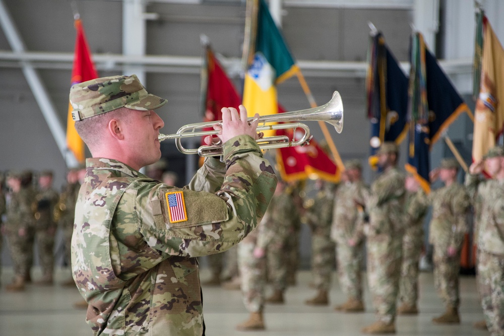
[[[204,121],[222,120],[221,109],[223,107],[235,107],[241,104],[241,97],[236,92],[231,80],[222,69],[212,49],[207,46],[207,94]],[[206,128],[205,130],[212,130]],[[203,139],[202,139],[203,142]]]

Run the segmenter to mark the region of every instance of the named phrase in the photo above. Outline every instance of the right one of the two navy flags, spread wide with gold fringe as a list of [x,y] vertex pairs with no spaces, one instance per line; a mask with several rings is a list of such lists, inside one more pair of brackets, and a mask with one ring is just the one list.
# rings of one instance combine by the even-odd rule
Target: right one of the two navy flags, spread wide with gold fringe
[[429,152],[447,127],[463,112],[471,112],[430,53],[423,36],[411,38],[409,79],[409,155],[406,170],[430,191]]

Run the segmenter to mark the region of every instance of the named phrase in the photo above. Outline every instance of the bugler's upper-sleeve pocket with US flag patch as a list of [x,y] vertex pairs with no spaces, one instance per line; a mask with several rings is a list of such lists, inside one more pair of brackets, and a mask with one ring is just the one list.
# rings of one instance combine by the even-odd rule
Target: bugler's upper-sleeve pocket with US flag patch
[[188,189],[160,190],[164,228],[186,228],[226,221],[227,205],[219,196]]

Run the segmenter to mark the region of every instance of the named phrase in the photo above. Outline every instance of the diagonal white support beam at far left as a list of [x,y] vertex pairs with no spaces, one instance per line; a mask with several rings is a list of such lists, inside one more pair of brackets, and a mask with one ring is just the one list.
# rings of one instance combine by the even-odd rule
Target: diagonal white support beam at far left
[[[25,44],[21,39],[21,35],[14,24],[7,7],[5,6],[3,0],[0,0],[0,25],[11,45],[14,52],[22,53],[26,51]],[[35,100],[44,116],[45,122],[52,133],[52,137],[56,142],[59,152],[65,159],[67,167],[76,167],[78,162],[74,154],[67,148],[67,135],[61,122],[57,116],[56,108],[52,103],[45,86],[35,70],[34,66],[26,60],[20,61],[22,66],[23,74],[25,75],[26,81],[30,86],[30,89],[35,96]]]

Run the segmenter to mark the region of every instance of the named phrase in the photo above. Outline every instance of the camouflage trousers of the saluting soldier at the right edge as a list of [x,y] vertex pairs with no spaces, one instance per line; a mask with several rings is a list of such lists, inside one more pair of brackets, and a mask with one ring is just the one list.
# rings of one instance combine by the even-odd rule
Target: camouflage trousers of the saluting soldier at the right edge
[[504,255],[478,249],[478,290],[491,336],[504,336]]

